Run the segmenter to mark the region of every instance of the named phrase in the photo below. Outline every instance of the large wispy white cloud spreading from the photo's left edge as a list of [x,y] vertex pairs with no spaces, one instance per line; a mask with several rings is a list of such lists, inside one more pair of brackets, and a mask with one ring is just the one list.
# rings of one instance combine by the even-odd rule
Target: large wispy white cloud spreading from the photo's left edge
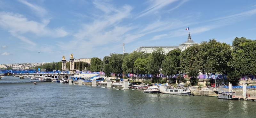
[[36,36],[64,37],[68,33],[63,28],[51,29],[47,25],[50,20],[44,19],[42,22],[28,20],[21,14],[12,12],[0,12],[0,27],[6,29],[12,36],[31,45],[36,45],[24,35],[31,33]]

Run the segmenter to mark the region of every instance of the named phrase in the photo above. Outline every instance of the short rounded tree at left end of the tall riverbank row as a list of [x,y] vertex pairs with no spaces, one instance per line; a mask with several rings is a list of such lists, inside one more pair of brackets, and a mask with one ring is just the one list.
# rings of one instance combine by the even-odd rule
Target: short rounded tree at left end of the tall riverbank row
[[90,70],[92,72],[98,72],[98,71],[101,71],[102,70],[102,62],[100,60],[100,58],[97,58],[97,57],[93,57],[91,59],[91,66],[90,66]]

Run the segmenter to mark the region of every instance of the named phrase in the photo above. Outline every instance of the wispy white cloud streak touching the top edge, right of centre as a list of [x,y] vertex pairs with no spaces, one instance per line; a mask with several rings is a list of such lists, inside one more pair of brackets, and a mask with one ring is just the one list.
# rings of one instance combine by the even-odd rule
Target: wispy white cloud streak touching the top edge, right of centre
[[160,10],[161,8],[165,7],[166,5],[172,4],[176,1],[177,0],[150,0],[150,6],[146,10],[140,12],[140,14],[135,19],[154,13]]

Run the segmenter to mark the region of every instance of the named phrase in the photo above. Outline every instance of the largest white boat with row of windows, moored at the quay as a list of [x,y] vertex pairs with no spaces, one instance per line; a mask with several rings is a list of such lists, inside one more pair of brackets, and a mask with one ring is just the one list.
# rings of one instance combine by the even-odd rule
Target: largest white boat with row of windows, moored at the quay
[[172,86],[159,86],[159,90],[165,94],[174,94],[174,95],[190,95],[190,90],[184,87],[185,84],[180,83],[178,87]]

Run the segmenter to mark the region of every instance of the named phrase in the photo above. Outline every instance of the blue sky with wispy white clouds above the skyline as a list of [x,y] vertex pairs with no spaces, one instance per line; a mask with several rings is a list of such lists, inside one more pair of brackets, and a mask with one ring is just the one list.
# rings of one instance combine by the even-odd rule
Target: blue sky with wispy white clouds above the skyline
[[256,39],[254,0],[0,0],[0,64]]

